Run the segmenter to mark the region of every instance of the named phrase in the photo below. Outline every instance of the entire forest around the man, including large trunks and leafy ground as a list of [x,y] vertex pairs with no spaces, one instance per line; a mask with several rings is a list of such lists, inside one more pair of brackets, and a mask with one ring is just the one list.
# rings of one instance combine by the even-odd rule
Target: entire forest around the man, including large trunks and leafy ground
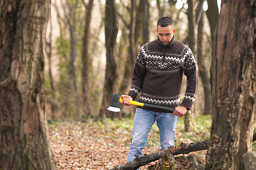
[[[256,169],[256,0],[0,0],[0,169],[125,163],[135,107],[107,108],[161,16],[200,76],[177,145],[209,137],[206,169]],[[156,125],[149,136],[146,153],[159,149]]]

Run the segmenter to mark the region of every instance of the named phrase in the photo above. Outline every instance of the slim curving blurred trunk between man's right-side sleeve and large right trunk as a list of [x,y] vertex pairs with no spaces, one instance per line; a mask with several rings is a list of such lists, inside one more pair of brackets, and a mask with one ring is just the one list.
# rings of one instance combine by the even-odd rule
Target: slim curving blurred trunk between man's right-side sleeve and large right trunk
[[197,38],[197,61],[198,70],[203,84],[203,94],[204,94],[204,109],[203,115],[208,115],[212,111],[212,98],[210,96],[210,74],[206,67],[204,55],[203,55],[203,23],[204,23],[204,13],[202,11],[201,18],[198,23],[198,38]]

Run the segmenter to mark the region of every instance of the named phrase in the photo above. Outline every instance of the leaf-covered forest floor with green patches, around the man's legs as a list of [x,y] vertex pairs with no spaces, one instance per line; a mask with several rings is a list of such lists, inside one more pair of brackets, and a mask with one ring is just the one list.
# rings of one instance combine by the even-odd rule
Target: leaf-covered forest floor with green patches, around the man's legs
[[[176,125],[176,145],[200,142],[210,137],[210,116],[194,118],[193,130],[184,132],[183,118]],[[92,119],[84,121],[53,121],[48,123],[50,144],[53,149],[57,170],[112,169],[125,164],[132,141],[133,118],[122,120],[106,119],[103,122]],[[156,123],[149,134],[144,154],[158,152],[159,130]],[[206,151],[192,152],[202,159]],[[151,162],[154,164],[154,162]],[[146,169],[142,166],[140,169]]]

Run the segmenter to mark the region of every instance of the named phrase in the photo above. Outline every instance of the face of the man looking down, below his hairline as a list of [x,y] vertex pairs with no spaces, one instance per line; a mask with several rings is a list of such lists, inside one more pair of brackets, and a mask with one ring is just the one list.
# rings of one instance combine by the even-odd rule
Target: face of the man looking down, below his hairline
[[157,26],[156,33],[159,36],[159,39],[164,44],[168,44],[171,39],[174,37],[176,29],[172,28],[172,26],[161,27]]

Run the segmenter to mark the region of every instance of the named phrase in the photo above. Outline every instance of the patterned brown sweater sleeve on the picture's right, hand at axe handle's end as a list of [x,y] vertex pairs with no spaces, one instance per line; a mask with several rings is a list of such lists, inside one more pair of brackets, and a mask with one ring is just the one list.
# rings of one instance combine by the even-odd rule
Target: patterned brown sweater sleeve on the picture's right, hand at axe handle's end
[[191,109],[191,106],[196,98],[196,93],[198,91],[198,71],[196,66],[196,60],[193,56],[193,52],[188,48],[185,50],[183,63],[183,72],[187,77],[188,86],[186,88],[186,93],[181,103],[181,106]]

